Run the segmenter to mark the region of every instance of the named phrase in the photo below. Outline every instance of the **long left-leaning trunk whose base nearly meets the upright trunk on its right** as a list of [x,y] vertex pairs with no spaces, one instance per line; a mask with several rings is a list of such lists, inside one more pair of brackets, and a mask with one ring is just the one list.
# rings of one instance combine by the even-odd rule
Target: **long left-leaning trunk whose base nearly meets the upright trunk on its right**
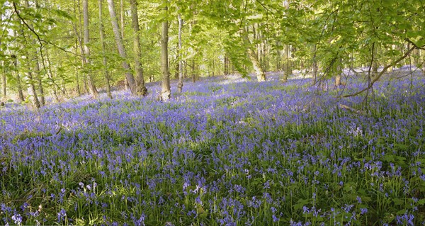
[[117,43],[118,52],[120,53],[120,56],[123,58],[123,68],[125,70],[125,78],[128,81],[128,84],[130,86],[131,94],[135,95],[137,94],[137,87],[136,87],[136,81],[135,77],[133,77],[132,73],[130,72],[130,64],[125,60],[127,59],[127,53],[125,52],[124,45],[123,45],[123,38],[120,35],[120,28],[118,27],[118,21],[117,16],[115,14],[115,7],[113,5],[113,0],[108,0],[108,9],[109,14],[111,15],[111,23],[113,28],[113,33],[115,35],[115,41]]

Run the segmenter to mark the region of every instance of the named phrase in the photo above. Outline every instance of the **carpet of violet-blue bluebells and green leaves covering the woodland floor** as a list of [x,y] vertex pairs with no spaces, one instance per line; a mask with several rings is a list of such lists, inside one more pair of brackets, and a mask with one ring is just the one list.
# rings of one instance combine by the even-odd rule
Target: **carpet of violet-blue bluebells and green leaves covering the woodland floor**
[[424,225],[422,74],[254,80],[0,109],[0,225]]

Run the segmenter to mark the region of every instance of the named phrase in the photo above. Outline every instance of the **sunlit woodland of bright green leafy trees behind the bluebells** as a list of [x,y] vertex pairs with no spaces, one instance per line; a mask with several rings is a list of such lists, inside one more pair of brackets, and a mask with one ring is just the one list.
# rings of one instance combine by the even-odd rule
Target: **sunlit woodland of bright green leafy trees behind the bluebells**
[[[397,64],[424,67],[421,0],[0,0],[1,96],[45,104],[147,82],[293,69],[314,82],[368,67],[371,87]],[[109,12],[109,14],[107,14]],[[381,67],[381,69],[379,69]],[[382,70],[383,68],[383,70]]]

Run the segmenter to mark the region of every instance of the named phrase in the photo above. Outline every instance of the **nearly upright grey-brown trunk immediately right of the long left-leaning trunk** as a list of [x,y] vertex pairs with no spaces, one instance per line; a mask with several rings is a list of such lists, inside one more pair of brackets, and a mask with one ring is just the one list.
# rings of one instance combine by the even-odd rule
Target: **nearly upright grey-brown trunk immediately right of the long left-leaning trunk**
[[143,77],[143,67],[140,62],[142,57],[142,50],[140,50],[140,35],[139,35],[139,16],[137,15],[137,3],[136,0],[130,0],[131,7],[131,23],[135,33],[134,47],[135,47],[135,71],[136,71],[136,86],[137,94],[146,96],[147,89],[145,86],[145,78]]

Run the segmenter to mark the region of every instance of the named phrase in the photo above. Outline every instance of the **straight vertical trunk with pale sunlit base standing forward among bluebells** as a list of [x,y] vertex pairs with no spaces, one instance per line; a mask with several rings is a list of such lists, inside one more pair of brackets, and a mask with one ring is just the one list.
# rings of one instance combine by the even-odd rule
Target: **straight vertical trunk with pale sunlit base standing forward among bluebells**
[[161,35],[161,71],[162,71],[162,90],[161,98],[162,101],[168,101],[171,97],[171,87],[170,87],[170,72],[168,64],[168,4],[167,0],[163,0],[162,3],[165,5],[164,9],[164,22],[162,22],[162,35]]

